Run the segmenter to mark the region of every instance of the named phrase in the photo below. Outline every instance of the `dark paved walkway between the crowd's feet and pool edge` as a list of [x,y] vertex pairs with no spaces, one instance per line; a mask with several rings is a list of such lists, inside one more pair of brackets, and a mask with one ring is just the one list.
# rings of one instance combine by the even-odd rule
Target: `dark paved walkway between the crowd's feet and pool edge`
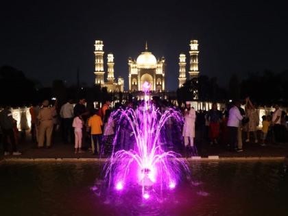
[[[50,149],[37,149],[32,146],[29,135],[25,141],[19,143],[21,156],[5,156],[5,158],[99,158],[91,152],[74,153],[73,145],[56,142]],[[244,143],[243,152],[229,152],[222,145],[210,146],[206,143],[197,143],[198,154],[204,158],[219,156],[219,158],[245,158],[245,157],[285,157],[288,158],[288,143],[279,145],[267,145],[262,147],[256,143]],[[0,160],[3,158],[3,150],[0,150]]]

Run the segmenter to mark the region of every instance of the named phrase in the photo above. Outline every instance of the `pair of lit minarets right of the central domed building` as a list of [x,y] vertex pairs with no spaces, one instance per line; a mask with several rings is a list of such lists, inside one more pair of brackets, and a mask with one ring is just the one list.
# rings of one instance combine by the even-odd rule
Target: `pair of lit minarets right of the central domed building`
[[[189,67],[189,79],[197,78],[199,76],[198,69],[198,40],[190,41],[190,67]],[[179,56],[179,88],[183,86],[184,82],[186,82],[186,56],[184,53],[180,53]]]

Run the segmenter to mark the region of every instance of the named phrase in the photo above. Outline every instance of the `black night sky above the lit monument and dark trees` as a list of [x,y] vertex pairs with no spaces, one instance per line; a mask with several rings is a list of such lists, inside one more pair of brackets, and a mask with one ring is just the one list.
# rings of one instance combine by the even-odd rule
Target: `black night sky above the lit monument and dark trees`
[[[288,3],[280,1],[5,1],[0,6],[0,66],[9,64],[51,86],[91,86],[94,43],[114,53],[115,77],[128,88],[128,57],[165,56],[168,90],[178,86],[178,57],[200,46],[200,73],[226,86],[230,75],[288,69]],[[106,56],[104,58],[106,62]],[[189,58],[187,58],[187,63]],[[188,71],[187,64],[187,71]]]

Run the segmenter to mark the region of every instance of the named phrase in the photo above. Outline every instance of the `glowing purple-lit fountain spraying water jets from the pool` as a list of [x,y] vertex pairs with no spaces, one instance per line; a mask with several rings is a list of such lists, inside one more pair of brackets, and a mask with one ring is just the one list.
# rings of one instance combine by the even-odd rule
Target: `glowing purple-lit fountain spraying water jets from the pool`
[[[121,126],[117,128],[113,143],[112,156],[105,166],[105,180],[109,189],[125,191],[136,187],[143,200],[153,197],[154,193],[173,190],[180,180],[189,175],[186,160],[173,151],[165,151],[161,145],[161,131],[170,118],[180,125],[183,121],[179,111],[167,108],[161,113],[148,99],[148,83],[143,84],[145,101],[133,110],[119,109],[112,113],[112,118],[129,122],[134,138],[129,150],[116,150],[115,145]],[[180,127],[179,127],[180,129]]]

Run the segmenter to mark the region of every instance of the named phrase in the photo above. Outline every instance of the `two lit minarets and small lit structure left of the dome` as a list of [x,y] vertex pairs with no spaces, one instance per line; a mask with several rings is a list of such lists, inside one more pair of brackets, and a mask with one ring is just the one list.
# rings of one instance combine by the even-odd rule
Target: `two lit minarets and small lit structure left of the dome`
[[124,80],[118,77],[115,82],[114,77],[114,56],[112,53],[107,55],[107,82],[104,81],[104,44],[102,40],[95,40],[95,84],[106,87],[108,92],[123,92]]

